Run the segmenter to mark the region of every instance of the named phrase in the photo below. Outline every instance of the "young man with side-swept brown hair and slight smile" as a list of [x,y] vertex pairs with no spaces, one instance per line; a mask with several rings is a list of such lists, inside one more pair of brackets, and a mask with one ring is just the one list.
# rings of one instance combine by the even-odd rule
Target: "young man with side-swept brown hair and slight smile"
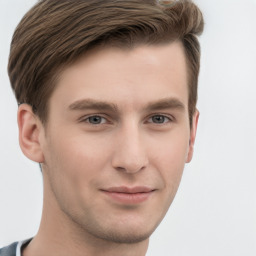
[[33,239],[0,255],[146,254],[190,162],[200,10],[191,1],[39,1],[12,40],[19,142],[40,163]]

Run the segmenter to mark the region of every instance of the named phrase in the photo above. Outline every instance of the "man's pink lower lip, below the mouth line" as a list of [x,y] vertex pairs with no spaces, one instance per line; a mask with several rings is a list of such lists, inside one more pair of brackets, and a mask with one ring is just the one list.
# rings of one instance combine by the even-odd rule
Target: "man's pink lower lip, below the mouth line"
[[103,191],[105,195],[110,197],[112,200],[122,204],[139,204],[145,202],[152,195],[153,191],[146,193],[118,193]]

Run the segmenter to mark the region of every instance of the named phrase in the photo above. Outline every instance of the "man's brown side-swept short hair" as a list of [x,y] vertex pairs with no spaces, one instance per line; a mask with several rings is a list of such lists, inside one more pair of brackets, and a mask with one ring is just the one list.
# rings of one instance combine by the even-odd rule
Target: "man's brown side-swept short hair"
[[17,26],[8,73],[18,104],[46,123],[58,76],[95,47],[132,48],[180,41],[188,70],[190,124],[200,68],[203,16],[189,0],[41,0]]

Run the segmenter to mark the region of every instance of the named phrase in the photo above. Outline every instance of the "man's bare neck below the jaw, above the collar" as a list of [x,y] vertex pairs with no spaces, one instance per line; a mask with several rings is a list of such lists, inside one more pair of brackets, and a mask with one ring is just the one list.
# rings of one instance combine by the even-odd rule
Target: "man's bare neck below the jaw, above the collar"
[[39,231],[23,249],[22,256],[145,256],[149,239],[125,244],[97,238],[66,216],[54,199],[52,194],[44,193]]

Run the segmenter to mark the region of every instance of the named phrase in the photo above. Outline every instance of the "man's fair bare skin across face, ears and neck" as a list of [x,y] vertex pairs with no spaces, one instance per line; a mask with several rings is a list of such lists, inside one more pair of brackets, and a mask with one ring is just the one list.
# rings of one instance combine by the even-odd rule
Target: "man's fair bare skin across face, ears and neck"
[[[18,110],[22,151],[44,179],[41,225],[23,255],[145,255],[192,158],[198,115],[190,127],[178,42],[94,50],[66,68],[45,126],[30,106]],[[106,193],[120,186],[151,192],[142,202]]]

